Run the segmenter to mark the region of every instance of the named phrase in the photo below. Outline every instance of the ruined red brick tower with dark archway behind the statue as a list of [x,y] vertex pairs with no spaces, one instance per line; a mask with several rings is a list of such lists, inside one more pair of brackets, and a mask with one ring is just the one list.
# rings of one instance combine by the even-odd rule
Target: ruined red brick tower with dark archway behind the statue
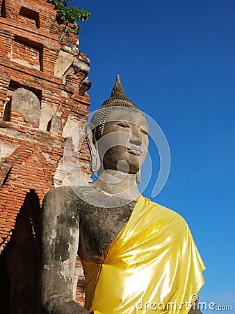
[[89,60],[76,36],[62,36],[49,1],[0,0],[0,8],[0,313],[37,314],[41,205],[68,184],[65,140],[70,165],[79,158],[90,180],[85,124],[71,135],[88,115]]

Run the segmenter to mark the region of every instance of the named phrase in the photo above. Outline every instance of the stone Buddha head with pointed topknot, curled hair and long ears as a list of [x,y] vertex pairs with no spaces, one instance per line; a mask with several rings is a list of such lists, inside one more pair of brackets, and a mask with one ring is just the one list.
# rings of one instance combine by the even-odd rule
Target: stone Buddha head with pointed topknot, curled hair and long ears
[[[92,171],[99,174],[129,174],[140,183],[140,167],[148,149],[148,125],[143,112],[129,100],[120,77],[111,97],[93,115],[86,127]],[[113,182],[113,181],[112,181]]]

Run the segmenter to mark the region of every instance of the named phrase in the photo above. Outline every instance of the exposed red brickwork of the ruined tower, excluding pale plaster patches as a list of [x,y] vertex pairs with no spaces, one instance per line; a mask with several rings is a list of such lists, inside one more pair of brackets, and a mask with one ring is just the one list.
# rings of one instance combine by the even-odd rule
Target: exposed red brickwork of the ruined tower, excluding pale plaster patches
[[[88,75],[89,60],[76,48],[76,36],[60,42],[63,26],[56,22],[54,6],[38,0],[0,0],[0,250],[8,244],[26,193],[35,190],[40,204],[54,188],[58,162],[63,161],[67,121],[88,115],[90,99],[81,87]],[[55,75],[58,55],[82,64],[63,75]],[[84,70],[85,68],[85,70]],[[70,73],[67,75],[67,73]],[[38,123],[26,121],[20,111],[11,110],[13,91],[23,87],[40,101]],[[9,114],[9,119],[6,119]],[[49,128],[56,117],[57,128]],[[48,121],[47,121],[48,119]],[[81,128],[84,128],[84,124]],[[90,177],[90,156],[86,140],[79,152],[81,170]],[[8,148],[10,151],[8,151]],[[81,267],[81,265],[79,266]],[[79,280],[76,300],[83,304],[84,279]]]

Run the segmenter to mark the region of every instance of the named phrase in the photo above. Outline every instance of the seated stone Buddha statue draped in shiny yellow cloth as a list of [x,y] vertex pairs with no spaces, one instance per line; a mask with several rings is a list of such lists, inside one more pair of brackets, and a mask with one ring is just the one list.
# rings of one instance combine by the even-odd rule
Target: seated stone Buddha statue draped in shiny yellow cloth
[[[44,198],[42,312],[200,313],[192,306],[204,264],[185,220],[138,190],[148,125],[118,75],[86,137],[95,183],[55,188]],[[77,254],[85,308],[72,299]]]

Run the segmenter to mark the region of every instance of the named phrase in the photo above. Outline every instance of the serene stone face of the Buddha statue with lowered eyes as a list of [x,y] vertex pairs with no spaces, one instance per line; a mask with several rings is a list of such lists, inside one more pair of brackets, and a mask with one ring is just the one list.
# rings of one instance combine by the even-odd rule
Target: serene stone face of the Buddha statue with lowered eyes
[[97,142],[104,169],[135,174],[143,165],[148,149],[148,125],[144,115],[129,107],[115,107]]

